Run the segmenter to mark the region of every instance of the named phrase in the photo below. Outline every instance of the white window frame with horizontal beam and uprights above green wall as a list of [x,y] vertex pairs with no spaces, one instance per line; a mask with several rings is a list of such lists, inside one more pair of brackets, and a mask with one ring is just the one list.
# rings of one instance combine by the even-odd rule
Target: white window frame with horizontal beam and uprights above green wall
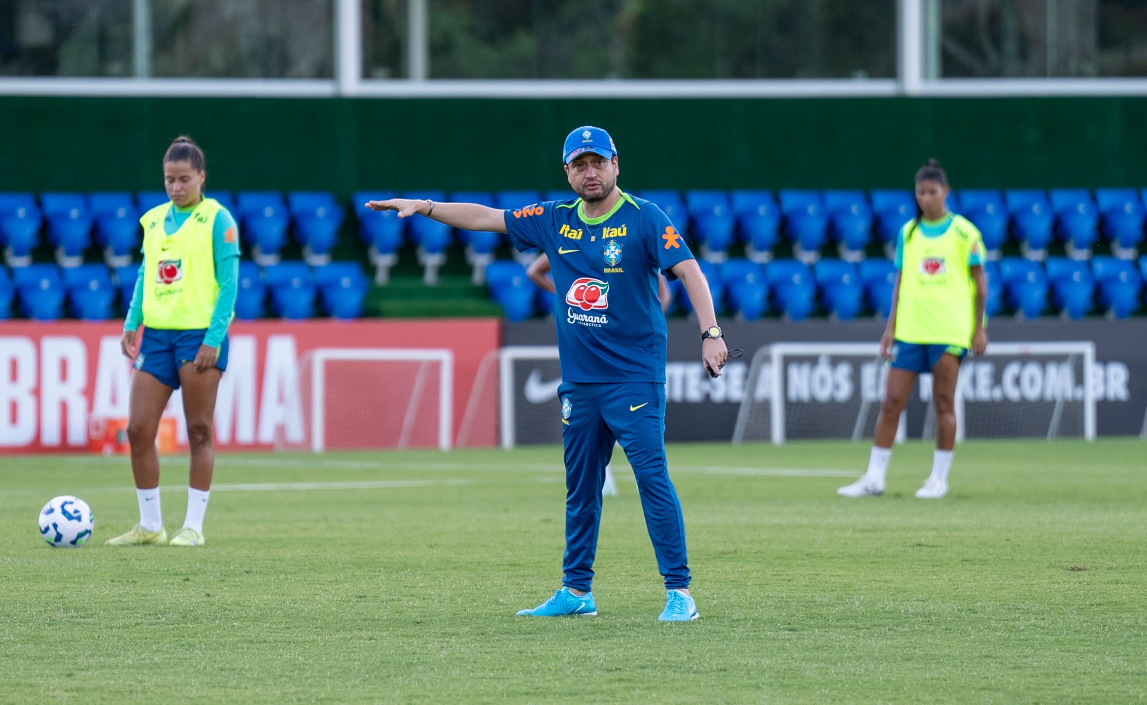
[[149,5],[134,3],[135,78],[0,78],[0,95],[251,96],[251,97],[492,97],[728,99],[728,97],[992,97],[1147,95],[1147,78],[927,78],[926,2],[898,0],[897,76],[873,79],[431,79],[427,0],[407,0],[408,78],[364,78],[362,2],[334,0],[335,72],[329,79],[149,78]]

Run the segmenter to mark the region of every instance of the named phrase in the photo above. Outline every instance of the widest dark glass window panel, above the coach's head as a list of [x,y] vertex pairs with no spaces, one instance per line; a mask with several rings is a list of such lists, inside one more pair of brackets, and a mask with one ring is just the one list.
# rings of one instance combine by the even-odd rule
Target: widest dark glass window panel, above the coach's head
[[865,78],[896,0],[428,0],[431,78]]

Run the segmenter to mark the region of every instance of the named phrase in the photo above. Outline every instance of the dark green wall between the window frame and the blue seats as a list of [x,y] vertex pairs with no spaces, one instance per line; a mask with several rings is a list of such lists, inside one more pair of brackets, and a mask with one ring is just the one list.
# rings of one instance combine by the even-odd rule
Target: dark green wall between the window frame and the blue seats
[[0,97],[0,190],[162,188],[178,134],[225,189],[561,188],[608,128],[623,188],[879,188],[938,157],[957,187],[1147,186],[1147,99]]

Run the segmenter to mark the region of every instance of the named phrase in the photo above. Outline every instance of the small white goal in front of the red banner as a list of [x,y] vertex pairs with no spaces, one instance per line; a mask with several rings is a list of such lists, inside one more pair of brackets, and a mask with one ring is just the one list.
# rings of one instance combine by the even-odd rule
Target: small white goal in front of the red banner
[[283,449],[451,448],[450,348],[320,347],[298,374],[303,429]]

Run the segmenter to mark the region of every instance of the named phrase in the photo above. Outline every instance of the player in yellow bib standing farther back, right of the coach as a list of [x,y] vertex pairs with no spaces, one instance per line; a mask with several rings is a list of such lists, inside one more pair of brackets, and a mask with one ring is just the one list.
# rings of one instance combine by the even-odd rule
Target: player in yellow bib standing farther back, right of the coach
[[880,338],[880,353],[890,369],[876,438],[868,471],[837,489],[841,496],[883,494],[900,412],[916,377],[928,371],[933,375],[936,405],[936,453],[931,475],[916,496],[939,499],[947,494],[960,361],[969,348],[977,355],[988,348],[984,246],[976,226],[949,212],[945,199],[950,191],[947,174],[936,159],[929,159],[916,172],[916,217],[897,236],[899,272],[892,289],[892,311]]

